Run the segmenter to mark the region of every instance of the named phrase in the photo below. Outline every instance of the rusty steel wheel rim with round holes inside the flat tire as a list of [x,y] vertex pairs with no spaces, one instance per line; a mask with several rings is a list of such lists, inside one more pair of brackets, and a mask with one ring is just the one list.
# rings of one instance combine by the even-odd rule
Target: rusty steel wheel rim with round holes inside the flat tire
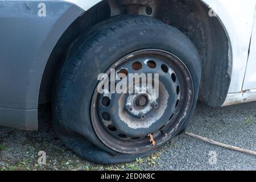
[[[193,101],[192,78],[183,62],[169,52],[144,49],[116,61],[106,71],[107,75],[110,69],[115,69],[115,74],[121,72],[125,75],[157,73],[159,97],[153,101],[147,99],[154,85],[144,89],[137,86],[144,92],[135,92],[136,84],[133,83],[133,93],[121,94],[100,94],[97,85],[90,114],[93,129],[101,142],[123,154],[141,154],[162,146],[174,137],[187,118]],[[117,85],[119,81],[109,84]],[[131,90],[129,85],[127,89]],[[150,134],[154,137],[155,146],[150,142]]]

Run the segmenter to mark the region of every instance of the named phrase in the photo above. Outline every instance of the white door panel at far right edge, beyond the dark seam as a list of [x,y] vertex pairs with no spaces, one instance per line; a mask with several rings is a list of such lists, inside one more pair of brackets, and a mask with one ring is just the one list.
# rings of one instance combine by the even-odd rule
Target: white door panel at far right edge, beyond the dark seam
[[251,36],[250,55],[248,59],[245,82],[243,90],[256,89],[256,13],[253,26],[253,35]]

